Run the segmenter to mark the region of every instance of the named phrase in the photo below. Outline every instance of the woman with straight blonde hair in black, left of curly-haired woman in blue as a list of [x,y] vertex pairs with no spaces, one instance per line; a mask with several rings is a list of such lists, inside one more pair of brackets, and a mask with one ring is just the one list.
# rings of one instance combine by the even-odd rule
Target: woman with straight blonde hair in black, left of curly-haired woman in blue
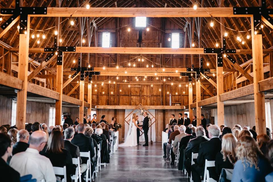
[[233,169],[236,162],[237,138],[231,133],[227,133],[222,137],[222,150],[216,154],[215,169],[220,177],[222,169]]

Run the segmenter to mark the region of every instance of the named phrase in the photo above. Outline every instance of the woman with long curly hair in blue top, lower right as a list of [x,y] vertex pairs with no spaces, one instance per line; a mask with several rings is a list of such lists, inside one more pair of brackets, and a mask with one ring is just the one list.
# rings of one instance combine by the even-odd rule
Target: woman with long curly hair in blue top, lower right
[[234,166],[232,182],[264,181],[265,176],[272,172],[268,160],[250,136],[243,136],[238,139],[236,156],[237,162]]

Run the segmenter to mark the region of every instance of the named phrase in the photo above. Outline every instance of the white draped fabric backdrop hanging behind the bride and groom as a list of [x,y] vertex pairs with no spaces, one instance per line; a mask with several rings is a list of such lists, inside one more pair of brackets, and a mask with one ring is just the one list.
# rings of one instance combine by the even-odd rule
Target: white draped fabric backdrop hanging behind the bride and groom
[[[132,111],[133,111],[133,109],[125,109],[125,117],[128,116]],[[155,115],[155,109],[148,109],[148,111],[152,115]],[[140,111],[138,109],[135,109],[135,112],[133,112],[133,113],[136,113],[136,115],[138,116],[138,121],[143,121],[144,116],[141,115],[141,113],[140,113]],[[133,114],[133,113],[131,113],[131,114]],[[150,115],[150,118],[152,118],[151,115]],[[125,120],[127,121],[127,123],[130,123],[130,119],[131,119],[131,115],[129,115]],[[154,120],[155,120],[155,118],[152,118],[151,124],[154,122]],[[125,133],[124,133],[125,138],[124,138],[124,140],[126,139],[127,133],[128,133],[128,130],[129,130],[129,125],[127,123],[126,122],[124,123],[124,127],[125,127]],[[142,132],[143,132],[143,130],[142,130]],[[140,131],[140,135],[141,135],[141,131]],[[149,139],[149,142],[151,140],[153,142],[156,141],[156,125],[155,125],[155,123],[149,128],[148,139]],[[145,142],[144,134],[142,134],[139,137],[139,142]]]

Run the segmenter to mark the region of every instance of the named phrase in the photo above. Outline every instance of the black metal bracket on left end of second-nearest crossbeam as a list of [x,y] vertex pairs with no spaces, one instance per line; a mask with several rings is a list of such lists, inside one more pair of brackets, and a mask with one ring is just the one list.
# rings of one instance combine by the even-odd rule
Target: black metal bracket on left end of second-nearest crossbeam
[[54,37],[54,47],[45,47],[45,52],[51,52],[49,56],[46,57],[48,61],[57,52],[57,65],[63,64],[63,52],[76,52],[76,47],[72,46],[57,46],[57,37]]

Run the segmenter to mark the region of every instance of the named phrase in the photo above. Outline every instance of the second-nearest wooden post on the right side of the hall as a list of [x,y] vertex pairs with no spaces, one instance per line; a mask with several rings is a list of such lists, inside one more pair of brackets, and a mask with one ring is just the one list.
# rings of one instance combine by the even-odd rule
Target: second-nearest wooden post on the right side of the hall
[[[216,55],[217,62],[217,55]],[[224,125],[224,102],[220,100],[220,94],[224,93],[223,67],[216,67],[217,81],[217,125]]]

